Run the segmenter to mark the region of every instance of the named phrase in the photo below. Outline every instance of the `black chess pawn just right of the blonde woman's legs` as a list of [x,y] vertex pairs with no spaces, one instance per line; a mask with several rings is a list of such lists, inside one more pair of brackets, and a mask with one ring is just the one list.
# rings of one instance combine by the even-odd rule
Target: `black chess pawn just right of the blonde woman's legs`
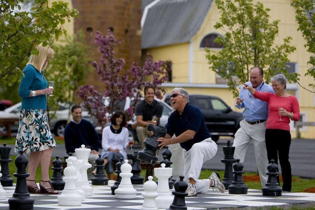
[[55,190],[63,190],[66,183],[62,180],[61,172],[63,171],[63,167],[59,156],[56,156],[56,159],[53,161],[53,167],[51,167],[51,170],[54,171],[53,176],[50,179],[51,185],[53,185]]

